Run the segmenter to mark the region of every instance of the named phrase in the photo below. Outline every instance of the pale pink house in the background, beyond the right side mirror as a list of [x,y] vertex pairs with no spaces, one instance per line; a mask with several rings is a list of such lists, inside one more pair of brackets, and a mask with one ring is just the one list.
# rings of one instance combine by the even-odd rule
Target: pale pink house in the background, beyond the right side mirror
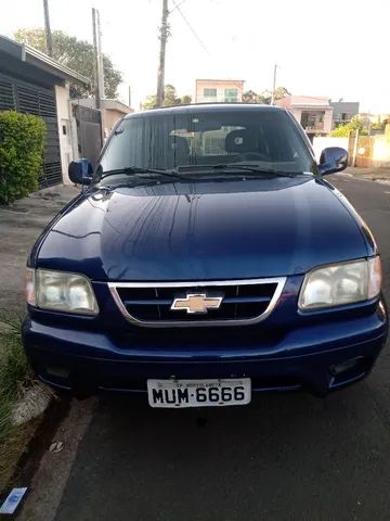
[[311,141],[314,136],[326,136],[332,130],[333,107],[328,98],[286,96],[276,104],[292,113]]

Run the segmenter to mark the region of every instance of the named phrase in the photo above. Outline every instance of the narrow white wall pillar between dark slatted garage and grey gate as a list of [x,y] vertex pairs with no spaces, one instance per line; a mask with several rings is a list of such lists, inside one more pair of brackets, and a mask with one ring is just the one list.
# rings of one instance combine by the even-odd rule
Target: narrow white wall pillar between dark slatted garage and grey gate
[[[67,175],[68,165],[74,158],[72,149],[72,124],[70,124],[70,107],[69,107],[69,84],[66,81],[65,87],[55,86],[55,100],[57,110],[58,123],[58,138],[61,149],[61,166],[63,173],[63,182],[70,185]],[[64,134],[65,127],[66,134]]]

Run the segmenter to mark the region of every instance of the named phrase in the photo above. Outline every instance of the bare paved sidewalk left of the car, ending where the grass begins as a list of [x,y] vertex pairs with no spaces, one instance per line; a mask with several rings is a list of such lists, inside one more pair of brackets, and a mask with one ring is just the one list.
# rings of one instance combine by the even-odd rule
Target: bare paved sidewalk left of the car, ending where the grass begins
[[0,206],[0,309],[24,309],[24,270],[27,255],[46,225],[75,195],[73,186],[53,187],[30,194],[13,206]]

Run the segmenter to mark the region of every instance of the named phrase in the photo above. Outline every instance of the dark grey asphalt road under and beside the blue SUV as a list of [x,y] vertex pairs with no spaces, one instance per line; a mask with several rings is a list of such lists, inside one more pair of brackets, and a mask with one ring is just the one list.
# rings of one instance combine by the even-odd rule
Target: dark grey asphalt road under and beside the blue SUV
[[[370,225],[390,302],[390,186],[334,176]],[[56,521],[389,520],[390,357],[326,399],[156,410],[101,398]]]

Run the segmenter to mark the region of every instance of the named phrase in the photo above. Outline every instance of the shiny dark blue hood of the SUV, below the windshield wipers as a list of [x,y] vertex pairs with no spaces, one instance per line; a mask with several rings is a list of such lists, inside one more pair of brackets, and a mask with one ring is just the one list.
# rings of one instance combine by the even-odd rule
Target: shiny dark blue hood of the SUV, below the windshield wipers
[[92,188],[54,220],[32,264],[93,280],[213,280],[366,255],[339,192],[299,177]]

